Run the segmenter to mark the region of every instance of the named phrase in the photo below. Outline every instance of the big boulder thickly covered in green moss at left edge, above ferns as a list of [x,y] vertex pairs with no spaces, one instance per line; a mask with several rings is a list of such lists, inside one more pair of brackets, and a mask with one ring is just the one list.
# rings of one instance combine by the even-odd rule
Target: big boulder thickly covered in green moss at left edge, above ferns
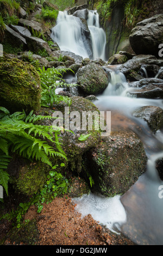
[[40,108],[40,76],[35,68],[18,59],[0,58],[0,102],[11,112],[27,113]]

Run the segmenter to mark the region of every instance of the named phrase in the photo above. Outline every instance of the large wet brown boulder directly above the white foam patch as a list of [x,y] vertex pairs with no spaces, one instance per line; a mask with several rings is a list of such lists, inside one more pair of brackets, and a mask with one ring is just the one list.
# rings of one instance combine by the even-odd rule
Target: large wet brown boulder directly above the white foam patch
[[133,132],[111,133],[85,155],[93,190],[106,197],[129,190],[145,172],[146,163],[143,144]]

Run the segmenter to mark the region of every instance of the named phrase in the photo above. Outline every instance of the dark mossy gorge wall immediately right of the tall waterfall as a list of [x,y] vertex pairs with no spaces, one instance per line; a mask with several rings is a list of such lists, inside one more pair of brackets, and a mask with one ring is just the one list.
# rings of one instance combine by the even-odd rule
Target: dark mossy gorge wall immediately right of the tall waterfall
[[[97,9],[99,3],[106,3],[108,0],[91,0],[88,2],[89,9]],[[110,0],[110,2],[112,2]],[[130,9],[127,13],[125,6],[128,4]],[[136,10],[136,15],[134,14]],[[156,14],[163,13],[162,0],[126,0],[114,1],[109,17],[106,19],[99,10],[101,25],[106,33],[106,56],[109,58],[119,51],[128,51],[134,53],[129,42],[131,29],[136,26],[137,22],[152,17]],[[131,20],[132,19],[132,20]]]

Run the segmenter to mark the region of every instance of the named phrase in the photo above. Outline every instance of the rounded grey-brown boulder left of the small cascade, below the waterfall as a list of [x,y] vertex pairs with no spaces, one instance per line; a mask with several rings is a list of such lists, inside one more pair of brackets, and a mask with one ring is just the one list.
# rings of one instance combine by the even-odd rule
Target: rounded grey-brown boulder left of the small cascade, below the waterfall
[[77,72],[77,84],[87,95],[102,93],[108,86],[108,76],[101,66],[95,63],[80,68]]

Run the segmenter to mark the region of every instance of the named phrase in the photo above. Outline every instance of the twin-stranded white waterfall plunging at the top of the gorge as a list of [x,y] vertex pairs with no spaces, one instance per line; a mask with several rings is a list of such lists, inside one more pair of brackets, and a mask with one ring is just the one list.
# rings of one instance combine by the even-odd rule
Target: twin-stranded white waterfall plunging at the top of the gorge
[[97,11],[89,11],[88,28],[79,17],[59,11],[57,25],[52,28],[51,38],[61,51],[70,51],[83,58],[105,60],[105,32],[99,26]]

